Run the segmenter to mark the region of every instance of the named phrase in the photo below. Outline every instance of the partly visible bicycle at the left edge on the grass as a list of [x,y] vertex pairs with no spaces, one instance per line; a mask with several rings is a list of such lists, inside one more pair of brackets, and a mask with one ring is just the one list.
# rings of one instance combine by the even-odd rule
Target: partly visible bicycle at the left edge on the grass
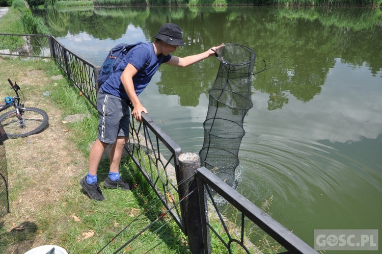
[[0,116],[0,124],[9,138],[22,138],[41,132],[49,122],[48,114],[38,108],[24,108],[26,101],[20,87],[8,79],[16,96],[6,96],[4,103],[0,103],[0,112],[11,107],[11,110]]

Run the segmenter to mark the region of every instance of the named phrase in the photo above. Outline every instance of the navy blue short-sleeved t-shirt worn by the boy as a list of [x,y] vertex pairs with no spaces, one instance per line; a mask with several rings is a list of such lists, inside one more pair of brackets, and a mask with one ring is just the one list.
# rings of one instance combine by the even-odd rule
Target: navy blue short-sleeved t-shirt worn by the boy
[[101,91],[114,96],[129,99],[125,88],[121,82],[121,75],[127,64],[132,64],[139,69],[134,75],[132,81],[134,83],[135,93],[139,95],[150,83],[151,78],[162,63],[166,63],[171,59],[171,55],[164,56],[162,54],[156,56],[152,43],[142,43],[130,49],[117,69],[110,75],[105,83],[101,86]]

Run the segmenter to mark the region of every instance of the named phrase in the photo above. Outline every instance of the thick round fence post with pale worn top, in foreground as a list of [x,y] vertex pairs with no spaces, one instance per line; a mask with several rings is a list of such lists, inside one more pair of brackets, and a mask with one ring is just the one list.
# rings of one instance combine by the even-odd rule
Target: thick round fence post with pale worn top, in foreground
[[[180,203],[183,213],[185,232],[188,237],[188,246],[193,254],[203,252],[203,227],[200,213],[198,182],[196,179],[196,170],[200,167],[199,155],[193,153],[184,153],[179,155],[179,195],[180,198],[190,194]],[[183,182],[184,181],[184,182]]]

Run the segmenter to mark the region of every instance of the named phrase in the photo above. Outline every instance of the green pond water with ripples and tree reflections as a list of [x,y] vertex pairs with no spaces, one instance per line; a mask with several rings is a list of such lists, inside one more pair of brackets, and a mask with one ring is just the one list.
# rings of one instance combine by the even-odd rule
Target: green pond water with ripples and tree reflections
[[[381,12],[184,7],[35,14],[60,42],[98,65],[117,43],[152,41],[162,23],[173,22],[186,41],[173,55],[238,43],[256,52],[254,73],[275,66],[252,79],[237,190],[257,206],[272,197],[269,214],[314,246],[317,229],[382,235]],[[183,152],[202,148],[208,90],[219,64],[211,57],[187,68],[162,65],[140,95]]]

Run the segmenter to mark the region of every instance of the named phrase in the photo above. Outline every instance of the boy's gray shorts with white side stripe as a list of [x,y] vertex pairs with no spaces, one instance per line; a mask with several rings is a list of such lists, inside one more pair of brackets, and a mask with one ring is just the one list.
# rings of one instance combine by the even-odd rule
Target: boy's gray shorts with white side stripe
[[126,99],[98,92],[97,111],[100,141],[113,144],[117,137],[129,136],[130,109]]

